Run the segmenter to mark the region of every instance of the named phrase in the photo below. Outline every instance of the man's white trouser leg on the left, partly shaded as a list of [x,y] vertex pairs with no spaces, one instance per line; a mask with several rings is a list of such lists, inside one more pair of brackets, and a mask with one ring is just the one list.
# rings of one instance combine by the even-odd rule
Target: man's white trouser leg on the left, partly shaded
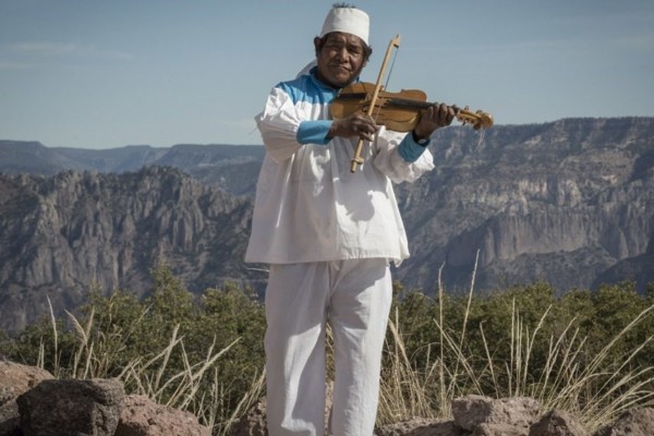
[[324,433],[327,265],[270,266],[265,307],[270,436]]

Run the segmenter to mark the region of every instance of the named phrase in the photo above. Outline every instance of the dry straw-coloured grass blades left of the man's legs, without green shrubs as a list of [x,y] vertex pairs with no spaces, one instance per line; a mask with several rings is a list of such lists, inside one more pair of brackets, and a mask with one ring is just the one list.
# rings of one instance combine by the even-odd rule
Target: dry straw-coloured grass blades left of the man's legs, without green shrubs
[[[99,331],[92,339],[93,310],[85,326],[82,326],[74,315],[68,313],[68,316],[77,338],[71,367],[65,367],[61,363],[59,334],[50,306],[55,353],[53,375],[57,378],[107,378],[108,370],[116,366],[117,358],[126,348],[125,341],[129,332]],[[124,384],[128,393],[143,395],[158,404],[190,411],[198,417],[203,425],[213,428],[214,435],[228,435],[230,428],[245,411],[261,398],[265,386],[265,374],[253,377],[250,390],[233,408],[226,400],[231,393],[229,380],[219,379],[217,365],[220,358],[239,342],[239,339],[220,350],[215,350],[215,344],[211,344],[204,360],[192,363],[184,350],[183,338],[178,334],[179,326],[175,326],[170,341],[164,350],[147,360],[136,358],[130,361],[117,378]],[[170,367],[173,353],[181,356],[182,371],[175,372]],[[39,347],[37,366],[41,368],[45,366],[43,341]]]

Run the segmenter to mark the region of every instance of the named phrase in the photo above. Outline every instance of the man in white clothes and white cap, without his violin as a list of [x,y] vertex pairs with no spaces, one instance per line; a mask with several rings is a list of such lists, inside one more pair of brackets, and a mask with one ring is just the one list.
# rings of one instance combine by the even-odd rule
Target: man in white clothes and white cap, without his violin
[[[326,326],[334,334],[330,426],[373,434],[382,351],[392,299],[389,263],[409,257],[392,183],[434,168],[432,133],[446,105],[421,113],[410,133],[364,113],[330,118],[340,88],[359,80],[372,49],[368,15],[336,4],[314,39],[316,60],[270,92],[256,117],[266,156],[246,262],[269,264],[266,289],[268,432],[323,435]],[[360,171],[350,171],[359,140]]]

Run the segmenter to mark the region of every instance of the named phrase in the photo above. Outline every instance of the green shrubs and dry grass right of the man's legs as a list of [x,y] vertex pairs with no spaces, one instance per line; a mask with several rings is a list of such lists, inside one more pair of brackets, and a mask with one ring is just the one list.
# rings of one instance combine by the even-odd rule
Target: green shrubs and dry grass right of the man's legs
[[[474,283],[474,278],[473,278]],[[398,289],[378,423],[451,419],[452,399],[532,397],[589,431],[654,404],[654,292],[632,283],[557,298],[546,283],[434,298]]]

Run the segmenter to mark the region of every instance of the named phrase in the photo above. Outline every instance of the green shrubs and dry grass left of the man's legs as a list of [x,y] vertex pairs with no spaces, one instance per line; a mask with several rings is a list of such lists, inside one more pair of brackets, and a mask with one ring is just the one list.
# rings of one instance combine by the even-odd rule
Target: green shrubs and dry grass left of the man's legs
[[94,291],[76,316],[50,317],[13,342],[13,360],[58,378],[111,378],[126,393],[190,411],[215,435],[227,434],[263,392],[264,315],[233,284],[196,298],[162,266],[143,300]]

